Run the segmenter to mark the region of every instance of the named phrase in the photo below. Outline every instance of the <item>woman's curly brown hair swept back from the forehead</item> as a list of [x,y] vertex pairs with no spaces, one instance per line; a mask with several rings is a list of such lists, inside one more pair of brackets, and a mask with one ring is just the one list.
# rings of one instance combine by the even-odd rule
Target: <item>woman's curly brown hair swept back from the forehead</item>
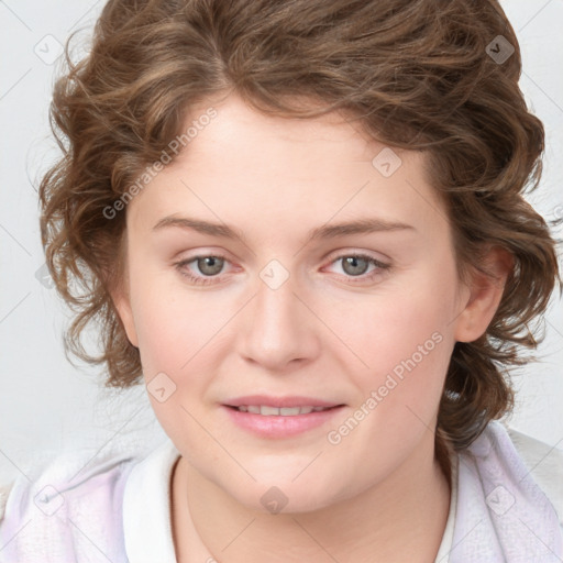
[[[429,155],[461,279],[485,272],[490,245],[514,257],[486,333],[455,344],[438,456],[510,411],[508,367],[528,361],[521,346],[541,341],[529,325],[561,278],[549,225],[523,198],[540,179],[544,132],[518,87],[520,49],[497,1],[110,0],[78,63],[70,40],[51,108],[64,155],[40,187],[47,265],[75,311],[67,356],[106,364],[107,386],[140,382],[139,350],[110,297],[121,280],[125,212],[109,219],[104,210],[161,157],[196,104],[236,91],[279,117],[340,111],[387,145]],[[98,355],[81,341],[92,321]]]

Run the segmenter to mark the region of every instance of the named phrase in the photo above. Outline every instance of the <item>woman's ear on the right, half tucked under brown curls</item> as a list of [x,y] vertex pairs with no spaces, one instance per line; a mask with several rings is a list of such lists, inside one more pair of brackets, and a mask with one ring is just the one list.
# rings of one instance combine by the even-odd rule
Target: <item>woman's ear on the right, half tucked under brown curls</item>
[[493,246],[485,256],[484,266],[492,276],[478,271],[472,274],[468,300],[456,318],[454,336],[457,342],[473,342],[487,330],[503,298],[514,257],[505,249]]

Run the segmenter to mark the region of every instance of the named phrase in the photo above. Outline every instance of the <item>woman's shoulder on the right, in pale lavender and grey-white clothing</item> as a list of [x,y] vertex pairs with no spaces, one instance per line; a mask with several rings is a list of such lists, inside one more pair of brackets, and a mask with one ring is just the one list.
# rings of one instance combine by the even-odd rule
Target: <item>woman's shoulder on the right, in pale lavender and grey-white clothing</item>
[[456,467],[452,562],[563,561],[556,449],[494,420]]

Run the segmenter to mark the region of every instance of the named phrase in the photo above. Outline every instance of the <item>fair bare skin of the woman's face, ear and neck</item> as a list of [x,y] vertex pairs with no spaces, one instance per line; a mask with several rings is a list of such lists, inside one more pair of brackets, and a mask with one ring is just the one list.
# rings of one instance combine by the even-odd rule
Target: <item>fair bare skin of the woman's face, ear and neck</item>
[[[146,382],[165,373],[176,385],[165,401],[150,398],[181,454],[172,478],[177,559],[433,562],[450,505],[434,459],[446,367],[455,342],[490,322],[506,256],[489,252],[495,282],[459,280],[424,155],[395,151],[402,164],[386,178],[372,164],[384,145],[357,122],[265,117],[234,95],[213,107],[218,117],[129,205],[113,294]],[[170,216],[233,225],[245,242],[154,229]],[[303,243],[311,229],[365,217],[412,229]],[[361,264],[366,273],[354,276],[342,258],[357,253],[389,268]],[[205,278],[197,261],[175,265],[218,254],[227,261],[209,285],[181,275]],[[272,260],[289,276],[277,289],[260,277]],[[440,343],[330,443],[432,334]],[[297,437],[257,438],[220,406],[250,394],[345,407]],[[261,503],[272,486],[288,499],[279,514]]]

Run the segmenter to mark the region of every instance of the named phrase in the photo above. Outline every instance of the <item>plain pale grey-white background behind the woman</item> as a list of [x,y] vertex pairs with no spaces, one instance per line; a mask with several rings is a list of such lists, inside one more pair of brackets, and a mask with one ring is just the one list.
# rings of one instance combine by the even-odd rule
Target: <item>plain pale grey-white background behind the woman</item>
[[[143,386],[106,390],[97,368],[68,363],[65,309],[36,278],[44,264],[36,186],[57,154],[47,126],[57,70],[49,57],[71,31],[88,37],[103,3],[0,1],[0,483],[62,449],[86,449],[93,459],[120,448],[150,450],[165,437]],[[563,0],[503,7],[520,40],[521,88],[547,129],[543,183],[531,201],[553,219],[563,216]],[[540,362],[515,374],[518,405],[509,423],[563,450],[562,313],[558,295]]]

